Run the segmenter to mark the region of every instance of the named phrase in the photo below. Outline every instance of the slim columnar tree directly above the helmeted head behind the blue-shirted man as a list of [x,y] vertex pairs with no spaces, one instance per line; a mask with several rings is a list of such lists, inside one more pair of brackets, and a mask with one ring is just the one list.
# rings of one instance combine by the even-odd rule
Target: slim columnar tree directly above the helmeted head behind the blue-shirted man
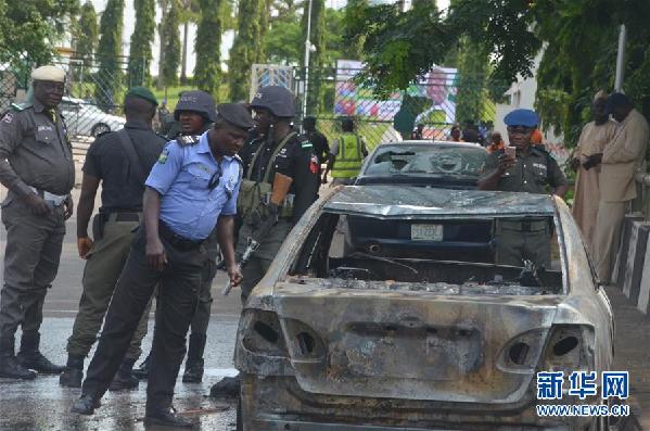
[[196,86],[217,96],[221,81],[221,3],[224,0],[199,0],[200,21],[196,29]]

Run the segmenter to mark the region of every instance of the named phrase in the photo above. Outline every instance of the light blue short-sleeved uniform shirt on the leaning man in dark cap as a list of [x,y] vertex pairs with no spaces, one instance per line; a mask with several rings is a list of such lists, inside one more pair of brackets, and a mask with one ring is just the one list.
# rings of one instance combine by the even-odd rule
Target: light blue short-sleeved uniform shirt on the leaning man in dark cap
[[[215,180],[220,176],[219,183],[209,190],[208,183],[215,174]],[[205,132],[195,144],[169,142],[145,185],[162,195],[161,220],[180,237],[203,240],[215,228],[219,215],[237,213],[240,182],[240,162],[224,156],[219,165]]]

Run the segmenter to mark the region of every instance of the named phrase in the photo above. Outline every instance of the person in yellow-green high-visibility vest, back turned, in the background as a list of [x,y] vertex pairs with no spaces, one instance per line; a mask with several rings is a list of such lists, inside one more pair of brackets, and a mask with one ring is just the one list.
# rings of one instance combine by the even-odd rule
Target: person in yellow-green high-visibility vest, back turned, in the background
[[334,140],[328,161],[328,167],[322,176],[322,183],[328,182],[328,173],[332,175],[332,186],[351,185],[361,170],[368,148],[364,137],[355,132],[355,123],[351,117],[341,123],[343,134]]

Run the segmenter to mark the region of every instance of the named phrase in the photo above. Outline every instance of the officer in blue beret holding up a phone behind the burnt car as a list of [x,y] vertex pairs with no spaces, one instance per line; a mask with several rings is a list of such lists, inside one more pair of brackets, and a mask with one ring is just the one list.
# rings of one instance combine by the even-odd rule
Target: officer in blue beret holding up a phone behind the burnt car
[[[479,180],[481,190],[553,193],[563,197],[566,178],[558,162],[544,149],[531,143],[539,124],[531,110],[514,110],[504,118],[515,157],[499,150],[489,155]],[[496,226],[497,262],[522,266],[527,259],[537,266],[550,266],[551,226],[547,219],[501,220]]]

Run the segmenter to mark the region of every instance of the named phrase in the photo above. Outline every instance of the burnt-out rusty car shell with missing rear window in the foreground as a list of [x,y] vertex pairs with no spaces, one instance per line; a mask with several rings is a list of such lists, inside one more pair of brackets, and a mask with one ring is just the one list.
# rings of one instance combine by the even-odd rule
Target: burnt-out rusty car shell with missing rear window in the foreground
[[[351,218],[381,241],[337,238]],[[498,263],[496,232],[512,220],[552,225],[548,267],[525,256],[517,266]],[[460,238],[459,229],[474,234]],[[412,246],[392,246],[394,236]],[[474,253],[455,251],[467,243]],[[331,189],[294,227],[242,312],[239,426],[601,430],[604,419],[537,416],[539,404],[604,402],[538,401],[536,373],[599,372],[612,360],[612,308],[562,200]]]

